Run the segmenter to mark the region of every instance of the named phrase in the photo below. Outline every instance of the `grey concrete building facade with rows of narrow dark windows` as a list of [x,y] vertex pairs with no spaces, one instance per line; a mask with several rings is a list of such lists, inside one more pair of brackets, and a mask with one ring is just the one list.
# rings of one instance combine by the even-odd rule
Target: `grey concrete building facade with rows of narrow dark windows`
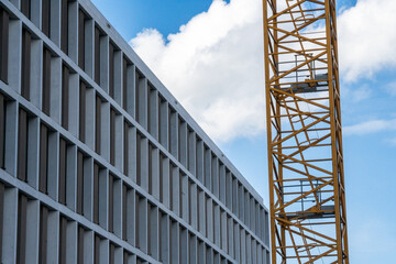
[[270,263],[262,198],[88,0],[0,0],[0,262]]

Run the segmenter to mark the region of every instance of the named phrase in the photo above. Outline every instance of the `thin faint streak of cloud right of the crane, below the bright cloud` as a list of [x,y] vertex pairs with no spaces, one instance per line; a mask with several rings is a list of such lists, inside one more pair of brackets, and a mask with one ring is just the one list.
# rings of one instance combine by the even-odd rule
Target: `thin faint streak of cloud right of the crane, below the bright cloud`
[[343,129],[345,135],[364,135],[382,131],[396,130],[396,119],[391,120],[370,120],[362,123],[348,125]]

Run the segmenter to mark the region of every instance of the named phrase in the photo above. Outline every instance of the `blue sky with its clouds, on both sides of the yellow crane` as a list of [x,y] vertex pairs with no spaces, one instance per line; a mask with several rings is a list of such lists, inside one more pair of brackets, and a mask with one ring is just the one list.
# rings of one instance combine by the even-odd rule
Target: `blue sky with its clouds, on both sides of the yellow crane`
[[[132,40],[138,54],[267,205],[264,120],[255,121],[264,117],[261,10],[233,1],[240,2],[238,12],[220,1],[211,7],[211,0],[121,0],[117,4],[92,0],[125,41]],[[396,4],[394,0],[341,0],[338,8],[351,263],[394,263],[396,51],[392,46],[396,41]],[[168,37],[169,33],[174,35]],[[169,58],[177,53],[183,56]],[[183,67],[188,69],[186,80],[172,76],[186,70]],[[215,122],[210,116],[222,117],[222,121]]]

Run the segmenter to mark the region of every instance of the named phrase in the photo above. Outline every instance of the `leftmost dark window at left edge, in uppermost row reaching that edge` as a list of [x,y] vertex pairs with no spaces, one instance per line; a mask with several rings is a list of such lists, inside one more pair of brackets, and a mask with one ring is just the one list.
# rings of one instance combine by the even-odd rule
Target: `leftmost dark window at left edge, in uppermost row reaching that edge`
[[0,8],[0,80],[8,82],[9,14]]

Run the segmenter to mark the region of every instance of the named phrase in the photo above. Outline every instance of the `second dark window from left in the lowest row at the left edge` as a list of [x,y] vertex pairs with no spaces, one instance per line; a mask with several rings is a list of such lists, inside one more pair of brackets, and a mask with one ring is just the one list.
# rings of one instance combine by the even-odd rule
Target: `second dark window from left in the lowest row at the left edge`
[[26,207],[28,197],[20,194],[18,199],[18,240],[16,240],[16,263],[26,262]]

